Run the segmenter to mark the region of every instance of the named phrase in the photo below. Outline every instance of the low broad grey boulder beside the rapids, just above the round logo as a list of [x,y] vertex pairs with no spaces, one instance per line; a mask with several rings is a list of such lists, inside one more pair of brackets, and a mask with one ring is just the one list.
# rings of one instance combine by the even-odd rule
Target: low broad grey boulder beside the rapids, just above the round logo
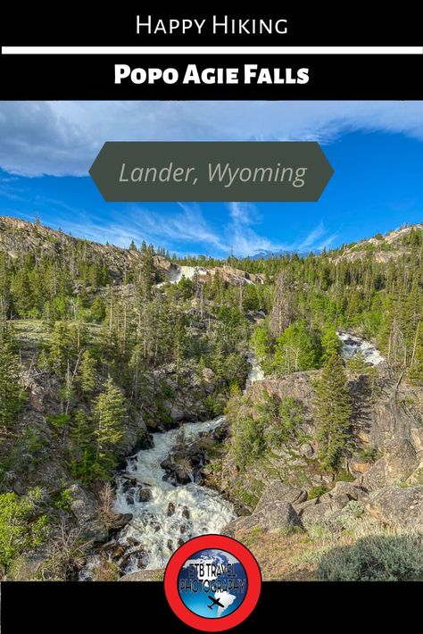
[[238,530],[261,529],[275,532],[295,527],[303,528],[303,525],[293,505],[284,501],[275,501],[263,506],[260,511],[254,511],[252,515],[230,521],[222,532],[228,537],[233,537]]

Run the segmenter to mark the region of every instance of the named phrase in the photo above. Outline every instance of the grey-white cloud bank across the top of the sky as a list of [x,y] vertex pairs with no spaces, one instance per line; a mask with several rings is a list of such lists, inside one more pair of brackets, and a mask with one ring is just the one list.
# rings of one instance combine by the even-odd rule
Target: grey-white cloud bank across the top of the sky
[[423,140],[423,102],[0,102],[0,168],[86,176],[106,140]]

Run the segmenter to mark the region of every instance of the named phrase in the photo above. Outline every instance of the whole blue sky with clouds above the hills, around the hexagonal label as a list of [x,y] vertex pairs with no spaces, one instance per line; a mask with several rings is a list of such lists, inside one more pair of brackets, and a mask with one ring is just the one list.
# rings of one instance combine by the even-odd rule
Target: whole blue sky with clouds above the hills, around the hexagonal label
[[[87,170],[106,140],[318,140],[318,203],[108,204]],[[0,214],[178,254],[319,251],[423,221],[422,102],[0,103]]]

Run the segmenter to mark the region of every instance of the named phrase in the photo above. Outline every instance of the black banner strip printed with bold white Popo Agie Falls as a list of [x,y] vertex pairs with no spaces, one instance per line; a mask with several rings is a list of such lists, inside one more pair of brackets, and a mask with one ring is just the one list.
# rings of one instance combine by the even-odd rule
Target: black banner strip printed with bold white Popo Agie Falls
[[[207,68],[308,69],[307,83],[115,84],[115,64],[130,69],[173,68],[183,77],[188,64]],[[1,55],[0,99],[422,99],[423,54],[394,55]],[[242,79],[242,77],[240,78]]]

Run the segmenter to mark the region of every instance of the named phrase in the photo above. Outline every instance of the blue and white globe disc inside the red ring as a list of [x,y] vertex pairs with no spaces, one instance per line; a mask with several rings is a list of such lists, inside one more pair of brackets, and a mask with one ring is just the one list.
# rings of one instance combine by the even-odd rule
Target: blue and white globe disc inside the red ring
[[178,593],[188,610],[220,619],[243,603],[248,578],[242,563],[225,550],[207,548],[191,555],[178,573]]

